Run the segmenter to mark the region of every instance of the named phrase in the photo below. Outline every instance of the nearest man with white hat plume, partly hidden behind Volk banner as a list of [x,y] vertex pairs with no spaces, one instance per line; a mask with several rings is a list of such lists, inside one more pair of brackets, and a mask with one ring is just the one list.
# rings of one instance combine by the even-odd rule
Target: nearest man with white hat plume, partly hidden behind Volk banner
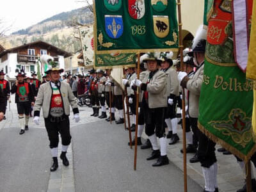
[[[215,155],[215,145],[212,140],[207,138],[205,134],[199,131],[197,127],[198,109],[200,90],[204,79],[204,60],[205,60],[205,45],[207,38],[207,30],[200,26],[193,40],[192,52],[195,58],[196,71],[190,79],[186,72],[179,72],[178,77],[180,85],[189,91],[189,118],[191,127],[195,136],[197,136],[198,152],[197,158],[200,161],[203,175],[205,179],[205,192],[214,192],[218,190],[217,184],[217,159]],[[196,158],[196,156],[195,156]]]

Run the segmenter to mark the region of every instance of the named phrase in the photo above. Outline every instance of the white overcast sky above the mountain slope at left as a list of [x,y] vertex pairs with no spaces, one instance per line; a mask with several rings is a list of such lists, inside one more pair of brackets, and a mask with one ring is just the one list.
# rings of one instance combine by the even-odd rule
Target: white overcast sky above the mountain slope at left
[[[0,20],[4,22],[1,26],[12,28],[8,33],[19,29],[26,29],[44,19],[52,17],[61,12],[68,12],[85,6],[84,0],[1,0]],[[84,1],[79,3],[79,1]],[[90,0],[92,2],[92,0]],[[0,27],[1,27],[0,26]],[[7,34],[8,35],[8,34]]]

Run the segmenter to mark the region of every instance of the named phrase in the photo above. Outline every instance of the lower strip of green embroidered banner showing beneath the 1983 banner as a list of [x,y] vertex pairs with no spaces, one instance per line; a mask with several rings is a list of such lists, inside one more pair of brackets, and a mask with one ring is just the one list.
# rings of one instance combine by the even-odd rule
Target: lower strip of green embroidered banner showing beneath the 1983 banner
[[117,53],[117,54],[97,54],[95,58],[95,67],[109,68],[109,67],[135,67],[136,54],[135,53]]

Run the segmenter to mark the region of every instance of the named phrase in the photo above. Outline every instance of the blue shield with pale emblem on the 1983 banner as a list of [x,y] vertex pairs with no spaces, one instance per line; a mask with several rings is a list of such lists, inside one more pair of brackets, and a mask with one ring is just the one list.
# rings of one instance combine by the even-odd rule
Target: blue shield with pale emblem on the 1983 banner
[[122,15],[105,15],[105,29],[110,38],[119,38],[124,32]]

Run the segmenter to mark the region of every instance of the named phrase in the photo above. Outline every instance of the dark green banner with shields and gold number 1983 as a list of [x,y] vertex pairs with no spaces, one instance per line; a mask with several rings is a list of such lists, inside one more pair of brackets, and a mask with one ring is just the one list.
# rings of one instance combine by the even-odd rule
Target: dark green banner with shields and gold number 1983
[[94,1],[96,54],[177,50],[176,12],[175,0]]

